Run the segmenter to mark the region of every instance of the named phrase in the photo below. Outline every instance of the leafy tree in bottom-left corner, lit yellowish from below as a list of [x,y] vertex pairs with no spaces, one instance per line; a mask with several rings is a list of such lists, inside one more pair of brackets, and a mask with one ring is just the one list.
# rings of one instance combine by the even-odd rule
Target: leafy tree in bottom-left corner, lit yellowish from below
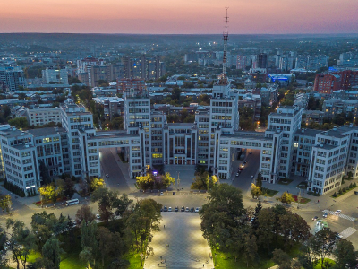
[[26,269],[30,251],[34,248],[34,236],[22,221],[6,221],[7,245],[12,252],[12,259],[16,262],[16,268],[20,269],[20,263]]

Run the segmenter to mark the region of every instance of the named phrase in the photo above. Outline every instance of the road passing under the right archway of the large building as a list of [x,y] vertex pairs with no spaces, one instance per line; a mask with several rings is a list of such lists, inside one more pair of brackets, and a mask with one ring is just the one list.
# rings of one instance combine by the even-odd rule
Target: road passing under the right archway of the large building
[[[252,154],[250,154],[249,152],[252,152]],[[234,168],[233,175],[232,175],[232,177],[234,177],[232,185],[234,187],[238,187],[242,189],[243,192],[247,192],[250,189],[251,183],[254,182],[251,179],[251,176],[254,176],[254,178],[256,178],[258,169],[260,167],[260,150],[248,149],[246,150],[246,153],[247,154],[245,156],[245,159],[243,159],[243,161],[246,160],[247,163],[245,164],[245,167],[239,174],[239,177],[235,177],[238,167]],[[243,161],[240,161],[239,163],[241,164],[243,163]]]

